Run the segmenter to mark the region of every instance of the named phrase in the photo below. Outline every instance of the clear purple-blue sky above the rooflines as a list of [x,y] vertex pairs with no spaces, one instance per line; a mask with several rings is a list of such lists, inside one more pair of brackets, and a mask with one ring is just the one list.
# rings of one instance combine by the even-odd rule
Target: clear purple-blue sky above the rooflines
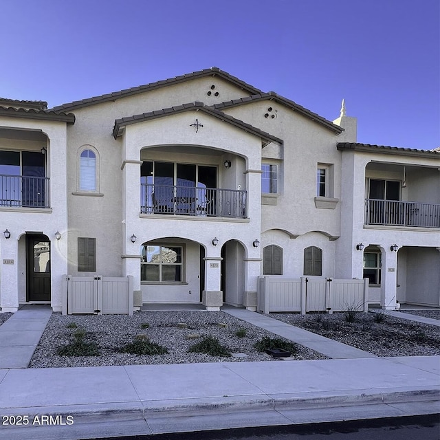
[[0,96],[49,107],[217,66],[358,141],[440,146],[438,0],[0,0]]

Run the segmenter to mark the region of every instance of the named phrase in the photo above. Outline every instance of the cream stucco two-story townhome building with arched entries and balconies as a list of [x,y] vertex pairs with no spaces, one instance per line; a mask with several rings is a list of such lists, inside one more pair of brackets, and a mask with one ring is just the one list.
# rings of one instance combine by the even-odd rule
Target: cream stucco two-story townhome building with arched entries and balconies
[[438,307],[439,151],[358,144],[356,124],[217,67],[53,109],[1,98],[1,311],[61,311],[67,276],[131,276],[134,307],[255,310],[262,276]]

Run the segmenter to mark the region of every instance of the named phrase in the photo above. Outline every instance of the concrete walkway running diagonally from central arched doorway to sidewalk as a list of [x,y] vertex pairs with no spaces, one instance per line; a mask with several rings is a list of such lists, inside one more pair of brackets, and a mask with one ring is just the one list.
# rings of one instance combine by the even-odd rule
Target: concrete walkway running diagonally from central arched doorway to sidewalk
[[297,342],[309,349],[318,351],[331,359],[376,358],[376,355],[368,353],[367,351],[356,349],[350,345],[342,344],[342,342],[325,338],[324,336],[300,329],[299,327],[294,327],[293,325],[286,324],[285,322],[278,321],[274,318],[256,314],[254,311],[224,306],[222,310],[236,318],[250,322],[250,324],[253,324],[256,327],[271,331],[272,333],[292,342]]

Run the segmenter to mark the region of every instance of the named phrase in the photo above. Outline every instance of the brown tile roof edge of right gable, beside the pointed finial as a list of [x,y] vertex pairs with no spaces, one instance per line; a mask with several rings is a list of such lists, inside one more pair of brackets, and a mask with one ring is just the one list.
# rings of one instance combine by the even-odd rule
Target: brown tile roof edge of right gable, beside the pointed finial
[[333,124],[333,122],[325,118],[322,118],[322,116],[318,115],[317,113],[314,113],[313,111],[310,111],[305,107],[296,104],[296,102],[289,100],[284,96],[276,94],[274,91],[270,91],[268,93],[256,94],[252,96],[246,96],[245,98],[236,99],[232,101],[221,102],[221,104],[214,104],[214,107],[216,109],[230,109],[231,107],[236,107],[243,104],[249,104],[250,102],[258,102],[261,100],[274,100],[275,102],[283,104],[289,109],[292,109],[297,113],[300,113],[301,115],[305,116],[305,118],[316,121],[318,122],[318,124],[325,126],[325,128],[330,129],[335,133],[340,134],[342,133],[342,131],[344,131],[344,129],[341,126]]

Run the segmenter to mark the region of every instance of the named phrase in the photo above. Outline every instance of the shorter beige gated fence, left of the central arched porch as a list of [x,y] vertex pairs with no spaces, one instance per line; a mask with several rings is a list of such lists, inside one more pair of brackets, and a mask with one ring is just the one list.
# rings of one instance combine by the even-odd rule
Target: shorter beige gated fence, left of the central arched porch
[[66,276],[63,314],[133,315],[133,276]]

